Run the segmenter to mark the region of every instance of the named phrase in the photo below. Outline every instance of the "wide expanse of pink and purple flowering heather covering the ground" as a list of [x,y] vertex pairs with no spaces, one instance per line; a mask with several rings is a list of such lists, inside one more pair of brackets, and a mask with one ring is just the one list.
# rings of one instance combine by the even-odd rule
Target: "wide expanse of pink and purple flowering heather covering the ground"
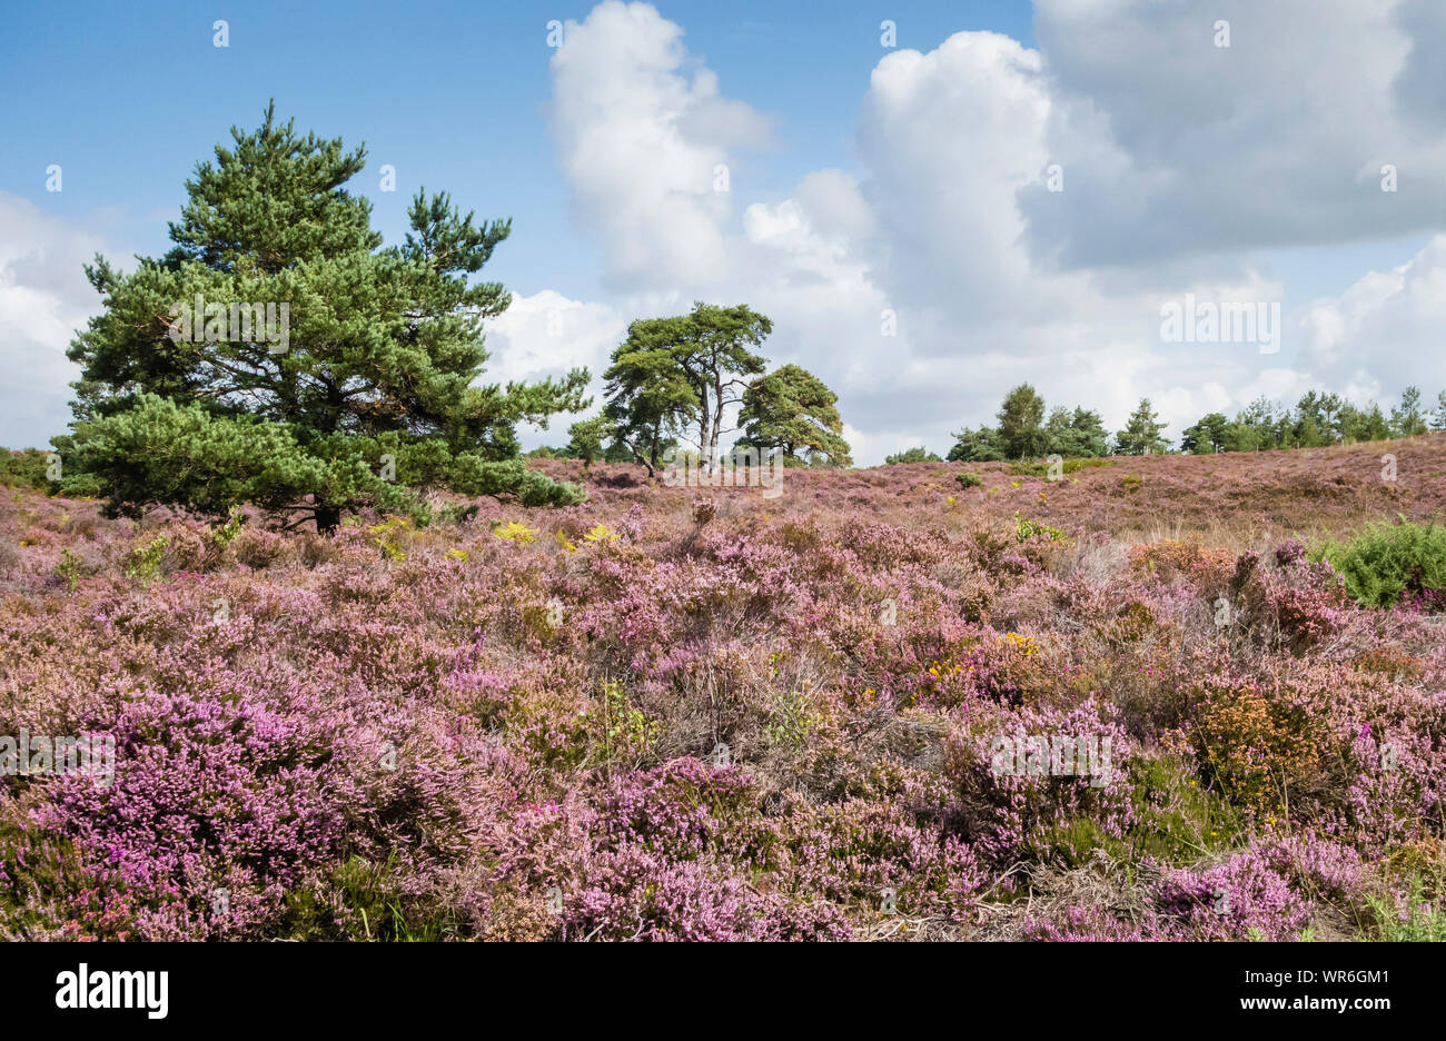
[[1446,515],[1392,451],[544,461],[587,502],[334,535],[4,490],[0,736],[116,756],[0,774],[0,934],[1430,934],[1442,594],[1314,552]]

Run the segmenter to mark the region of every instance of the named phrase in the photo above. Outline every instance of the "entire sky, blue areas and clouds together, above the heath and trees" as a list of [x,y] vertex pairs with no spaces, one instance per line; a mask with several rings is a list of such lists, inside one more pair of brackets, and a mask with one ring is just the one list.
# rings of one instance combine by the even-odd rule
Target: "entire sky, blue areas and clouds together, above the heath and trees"
[[[693,299],[769,314],[855,457],[1028,380],[1178,431],[1257,395],[1446,386],[1446,4],[29,4],[0,35],[0,444],[68,418],[80,266],[159,254],[197,160],[268,98],[366,142],[395,241],[421,185],[513,218],[489,379],[587,364]],[[230,46],[213,46],[213,22]],[[547,25],[567,22],[561,51]],[[881,22],[897,25],[897,46]],[[1228,46],[1216,23],[1229,23]],[[46,166],[64,191],[46,191]],[[377,191],[379,168],[398,191]],[[726,165],[730,189],[707,185]],[[1047,188],[1058,163],[1063,191]],[[1398,169],[1382,192],[1379,172]],[[1186,295],[1278,302],[1278,351],[1165,343]],[[897,335],[882,333],[892,314]],[[561,330],[561,331],[560,331]],[[567,419],[561,422],[565,428]],[[558,442],[528,431],[525,442]]]

